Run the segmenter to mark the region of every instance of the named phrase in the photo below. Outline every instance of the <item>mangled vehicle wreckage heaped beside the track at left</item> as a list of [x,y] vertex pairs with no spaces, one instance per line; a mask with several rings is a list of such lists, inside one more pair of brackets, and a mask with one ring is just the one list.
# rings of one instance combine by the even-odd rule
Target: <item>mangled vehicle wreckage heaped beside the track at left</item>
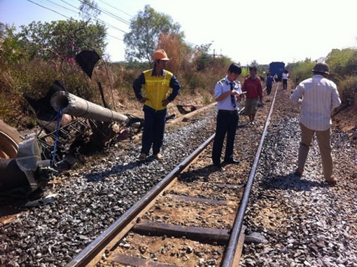
[[[94,51],[82,53],[87,57],[90,52]],[[96,61],[90,61],[90,67],[82,57],[76,61],[91,78]],[[131,138],[144,125],[144,118],[120,114],[72,95],[59,80],[38,100],[27,93],[23,97],[36,114],[40,130],[23,137],[0,119],[0,194],[29,196],[42,189],[53,173],[69,170],[80,155],[100,151],[114,138]],[[197,108],[177,105],[177,109],[188,114]],[[167,120],[174,117],[167,116]]]

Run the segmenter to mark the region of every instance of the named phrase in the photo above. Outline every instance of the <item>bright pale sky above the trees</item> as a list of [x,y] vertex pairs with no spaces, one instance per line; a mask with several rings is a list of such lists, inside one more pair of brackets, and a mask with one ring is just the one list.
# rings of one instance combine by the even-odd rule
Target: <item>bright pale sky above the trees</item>
[[[107,53],[124,60],[123,34],[144,6],[172,17],[186,42],[212,43],[212,51],[235,62],[317,60],[332,49],[357,47],[357,2],[349,0],[96,0],[107,23]],[[40,5],[40,6],[39,6]],[[43,6],[43,7],[41,7]],[[79,0],[0,0],[0,21],[16,27],[32,21],[80,19]],[[45,8],[44,8],[45,7]],[[77,8],[77,10],[76,10]],[[116,18],[113,18],[113,15]]]

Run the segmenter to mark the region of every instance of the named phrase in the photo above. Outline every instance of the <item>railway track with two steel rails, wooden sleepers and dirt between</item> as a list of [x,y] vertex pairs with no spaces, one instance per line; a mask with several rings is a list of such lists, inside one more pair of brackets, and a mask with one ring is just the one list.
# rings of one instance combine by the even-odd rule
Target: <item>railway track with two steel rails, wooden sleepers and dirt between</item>
[[259,111],[251,162],[214,171],[211,135],[68,266],[238,266],[244,240],[265,242],[246,235],[243,220],[277,87]]

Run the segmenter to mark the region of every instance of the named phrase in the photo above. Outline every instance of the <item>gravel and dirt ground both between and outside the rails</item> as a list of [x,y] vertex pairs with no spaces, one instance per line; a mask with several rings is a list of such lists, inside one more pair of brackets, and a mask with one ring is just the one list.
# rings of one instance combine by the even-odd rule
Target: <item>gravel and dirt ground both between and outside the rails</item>
[[[307,174],[296,177],[298,110],[291,107],[289,96],[290,91],[280,86],[254,174],[244,226],[237,235],[244,234],[239,266],[356,266],[356,166],[351,165],[356,162],[356,144],[347,135],[353,130],[332,131],[337,186],[323,182],[317,144],[311,147]],[[272,97],[265,95],[255,125],[248,125],[246,116],[239,118],[234,151],[239,165],[225,165],[224,172],[216,172],[211,167],[209,143],[197,159],[181,167],[182,172],[175,178],[179,187],[174,187],[174,182],[161,193],[158,201],[146,212],[143,210],[126,233],[121,233],[122,238],[117,231],[111,244],[109,238],[102,239],[97,261],[92,259],[83,265],[130,266],[118,263],[116,255],[133,265],[136,258],[145,259],[150,266],[223,265],[227,242],[200,242],[172,233],[155,236],[153,229],[150,235],[141,235],[134,226],[155,221],[160,225],[232,229],[239,209],[237,202],[257,162]],[[165,158],[161,162],[149,158],[139,163],[140,147],[135,140],[113,143],[101,155],[87,158],[85,165],[56,175],[41,194],[51,196],[43,198],[50,200],[48,203],[27,207],[25,200],[15,203],[9,202],[12,198],[0,198],[1,214],[5,215],[0,219],[7,218],[0,221],[0,265],[74,266],[73,261],[88,245],[93,246],[107,228],[113,228],[111,224],[127,216],[170,170],[211,136],[216,111],[206,108],[187,121],[169,122],[167,129],[172,129],[165,135]],[[197,198],[202,200],[193,202]],[[169,203],[172,200],[175,202]],[[215,206],[211,207],[211,202]],[[169,214],[172,205],[175,212]],[[10,208],[8,213],[3,207]],[[261,236],[266,238],[264,244]]]

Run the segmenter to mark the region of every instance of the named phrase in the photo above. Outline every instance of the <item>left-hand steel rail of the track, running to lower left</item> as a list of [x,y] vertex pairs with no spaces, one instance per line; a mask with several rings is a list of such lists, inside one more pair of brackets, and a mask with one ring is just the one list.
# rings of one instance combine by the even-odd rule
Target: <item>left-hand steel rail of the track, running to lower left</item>
[[202,151],[211,143],[214,139],[215,134],[211,135],[204,143],[202,143],[193,153],[190,154],[187,158],[185,158],[179,165],[177,165],[174,170],[169,172],[167,176],[162,179],[158,184],[156,184],[151,191],[148,191],[146,195],[139,200],[138,203],[133,205],[122,217],[116,220],[109,228],[106,229],[98,238],[93,240],[90,245],[85,247],[82,252],[80,252],[76,257],[74,257],[71,262],[69,262],[66,266],[70,267],[79,267],[79,266],[87,266],[93,259],[96,258],[97,254],[102,252],[107,246],[110,244],[111,240],[116,237],[123,231],[123,229],[130,224],[130,222],[137,217],[137,214],[141,210],[151,203],[153,199],[156,198],[167,185],[169,185],[174,178],[182,172],[197,156],[202,153]]

